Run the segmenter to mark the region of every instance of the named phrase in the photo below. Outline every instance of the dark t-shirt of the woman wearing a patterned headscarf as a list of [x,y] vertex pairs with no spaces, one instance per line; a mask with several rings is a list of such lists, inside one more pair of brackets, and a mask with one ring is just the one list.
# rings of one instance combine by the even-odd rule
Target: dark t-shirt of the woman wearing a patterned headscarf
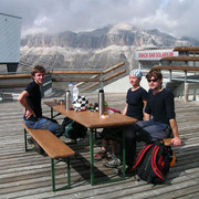
[[143,121],[143,101],[146,100],[147,92],[143,87],[139,87],[136,91],[129,88],[126,96],[126,103],[128,104],[126,115]]

